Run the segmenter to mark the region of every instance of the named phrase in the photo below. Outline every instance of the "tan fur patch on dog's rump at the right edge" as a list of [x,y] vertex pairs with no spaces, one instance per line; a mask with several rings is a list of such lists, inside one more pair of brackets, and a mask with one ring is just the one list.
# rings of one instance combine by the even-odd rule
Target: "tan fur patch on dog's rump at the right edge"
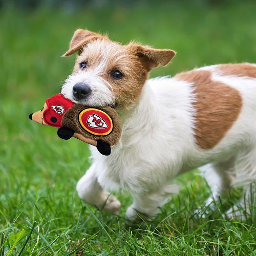
[[247,76],[256,78],[256,66],[246,63],[242,64],[222,64],[217,69],[222,71],[223,75]]

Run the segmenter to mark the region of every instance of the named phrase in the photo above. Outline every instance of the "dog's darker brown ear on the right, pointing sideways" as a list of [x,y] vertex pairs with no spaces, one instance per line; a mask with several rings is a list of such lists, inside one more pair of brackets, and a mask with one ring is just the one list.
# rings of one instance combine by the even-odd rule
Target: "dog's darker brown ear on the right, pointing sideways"
[[151,71],[159,65],[166,66],[176,54],[173,50],[154,49],[150,46],[135,45],[133,43],[129,44],[128,47],[134,51],[134,54],[147,71]]

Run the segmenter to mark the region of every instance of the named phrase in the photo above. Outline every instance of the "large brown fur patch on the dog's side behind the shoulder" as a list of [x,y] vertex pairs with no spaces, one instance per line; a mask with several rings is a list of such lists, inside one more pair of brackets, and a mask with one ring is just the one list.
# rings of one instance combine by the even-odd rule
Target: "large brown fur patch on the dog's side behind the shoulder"
[[193,70],[175,77],[194,83],[195,138],[199,147],[209,150],[221,141],[237,120],[242,107],[241,95],[236,89],[211,80],[209,71]]

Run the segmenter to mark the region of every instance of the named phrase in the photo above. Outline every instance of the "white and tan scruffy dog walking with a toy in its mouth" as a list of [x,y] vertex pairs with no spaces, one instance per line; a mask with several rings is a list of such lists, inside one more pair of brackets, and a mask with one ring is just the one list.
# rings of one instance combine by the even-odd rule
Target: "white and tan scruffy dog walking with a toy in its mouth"
[[112,106],[122,123],[110,156],[91,147],[92,165],[77,183],[84,202],[118,214],[121,204],[108,191],[121,187],[133,196],[126,218],[152,219],[177,192],[169,181],[200,166],[212,193],[206,205],[234,186],[244,188],[242,206],[255,196],[255,64],[214,65],[148,79],[176,52],[133,41],[121,45],[82,29],[63,56],[76,52],[61,93],[75,103]]

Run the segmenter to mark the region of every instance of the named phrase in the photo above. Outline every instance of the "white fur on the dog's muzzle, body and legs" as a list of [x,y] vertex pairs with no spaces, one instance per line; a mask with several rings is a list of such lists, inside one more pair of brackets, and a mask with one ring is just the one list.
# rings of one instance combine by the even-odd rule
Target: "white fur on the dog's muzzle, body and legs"
[[[110,199],[105,190],[121,187],[134,198],[126,217],[134,220],[141,214],[150,218],[177,191],[169,184],[171,179],[205,164],[202,169],[214,199],[237,185],[244,186],[249,195],[250,184],[256,181],[256,79],[222,76],[216,66],[201,69],[211,71],[214,80],[236,88],[243,98],[241,113],[225,137],[211,150],[202,150],[194,137],[192,84],[170,77],[147,80],[138,104],[118,111],[122,136],[111,155],[103,156],[91,147],[93,164],[77,184],[80,198],[116,213],[120,203]],[[110,86],[99,79],[97,71],[70,76],[62,88],[64,96],[73,100],[76,82],[93,86],[87,104],[113,103]],[[231,216],[231,210],[228,213]]]

